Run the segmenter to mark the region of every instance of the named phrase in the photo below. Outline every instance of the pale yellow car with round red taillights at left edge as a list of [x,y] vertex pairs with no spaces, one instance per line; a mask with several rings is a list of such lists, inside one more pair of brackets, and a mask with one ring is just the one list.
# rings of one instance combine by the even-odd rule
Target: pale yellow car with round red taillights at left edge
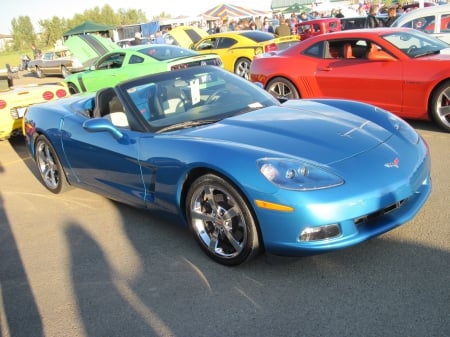
[[64,83],[30,84],[15,88],[10,77],[0,75],[0,140],[22,134],[22,117],[30,105],[68,95]]

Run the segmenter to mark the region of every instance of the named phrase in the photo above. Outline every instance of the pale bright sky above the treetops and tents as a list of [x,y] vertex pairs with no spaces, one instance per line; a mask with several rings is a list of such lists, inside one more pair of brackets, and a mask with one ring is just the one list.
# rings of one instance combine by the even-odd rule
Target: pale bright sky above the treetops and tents
[[[162,12],[170,14],[172,17],[179,15],[195,16],[207,11],[221,3],[229,3],[237,6],[270,10],[271,0],[231,0],[231,1],[211,1],[211,0],[12,0],[12,2],[2,1],[0,6],[0,34],[11,33],[11,20],[19,16],[29,16],[34,30],[39,31],[39,20],[51,19],[54,16],[71,19],[75,14],[81,14],[86,9],[94,7],[102,8],[109,4],[115,11],[119,8],[141,9],[148,20]],[[6,8],[7,7],[7,8]]]

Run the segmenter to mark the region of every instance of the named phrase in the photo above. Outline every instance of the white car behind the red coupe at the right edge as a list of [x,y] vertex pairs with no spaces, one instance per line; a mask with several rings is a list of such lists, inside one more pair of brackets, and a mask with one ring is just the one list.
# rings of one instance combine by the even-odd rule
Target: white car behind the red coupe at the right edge
[[392,27],[415,28],[450,44],[450,5],[411,10],[398,17]]

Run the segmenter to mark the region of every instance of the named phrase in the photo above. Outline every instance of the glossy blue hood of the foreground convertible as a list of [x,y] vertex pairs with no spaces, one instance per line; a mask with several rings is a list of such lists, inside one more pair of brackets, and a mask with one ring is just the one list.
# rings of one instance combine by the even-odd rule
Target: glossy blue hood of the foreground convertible
[[259,148],[267,156],[296,156],[323,164],[369,151],[392,135],[364,118],[318,106],[315,110],[269,107],[186,133],[206,141]]

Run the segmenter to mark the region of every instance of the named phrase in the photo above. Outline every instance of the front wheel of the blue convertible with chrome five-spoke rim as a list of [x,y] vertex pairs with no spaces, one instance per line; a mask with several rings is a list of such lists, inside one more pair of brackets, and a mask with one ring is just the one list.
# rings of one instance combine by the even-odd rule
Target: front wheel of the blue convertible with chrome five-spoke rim
[[235,266],[259,252],[253,214],[241,193],[214,174],[197,178],[186,197],[186,217],[201,249],[214,261]]

